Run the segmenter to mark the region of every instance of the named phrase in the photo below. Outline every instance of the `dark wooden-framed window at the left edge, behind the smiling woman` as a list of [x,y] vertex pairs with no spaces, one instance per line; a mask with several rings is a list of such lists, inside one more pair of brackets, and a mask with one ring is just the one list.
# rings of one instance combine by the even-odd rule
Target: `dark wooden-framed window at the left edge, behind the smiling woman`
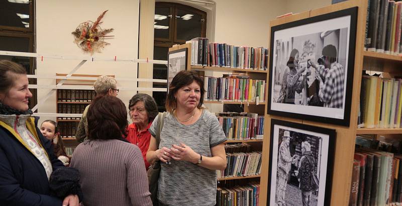
[[[35,0],[0,0],[0,51],[35,52]],[[21,64],[27,74],[34,74],[35,59],[0,55],[0,59]],[[29,84],[36,84],[36,79],[29,79]],[[33,97],[29,107],[37,103],[36,89],[30,89]]]

